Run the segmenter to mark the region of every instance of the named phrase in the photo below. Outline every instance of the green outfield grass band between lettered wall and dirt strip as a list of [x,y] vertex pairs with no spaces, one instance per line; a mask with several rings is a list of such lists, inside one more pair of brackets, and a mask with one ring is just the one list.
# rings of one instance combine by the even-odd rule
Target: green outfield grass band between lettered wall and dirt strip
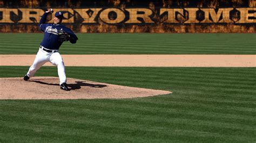
[[[78,33],[61,54],[256,54],[256,34]],[[0,54],[36,54],[43,33],[0,33]]]

